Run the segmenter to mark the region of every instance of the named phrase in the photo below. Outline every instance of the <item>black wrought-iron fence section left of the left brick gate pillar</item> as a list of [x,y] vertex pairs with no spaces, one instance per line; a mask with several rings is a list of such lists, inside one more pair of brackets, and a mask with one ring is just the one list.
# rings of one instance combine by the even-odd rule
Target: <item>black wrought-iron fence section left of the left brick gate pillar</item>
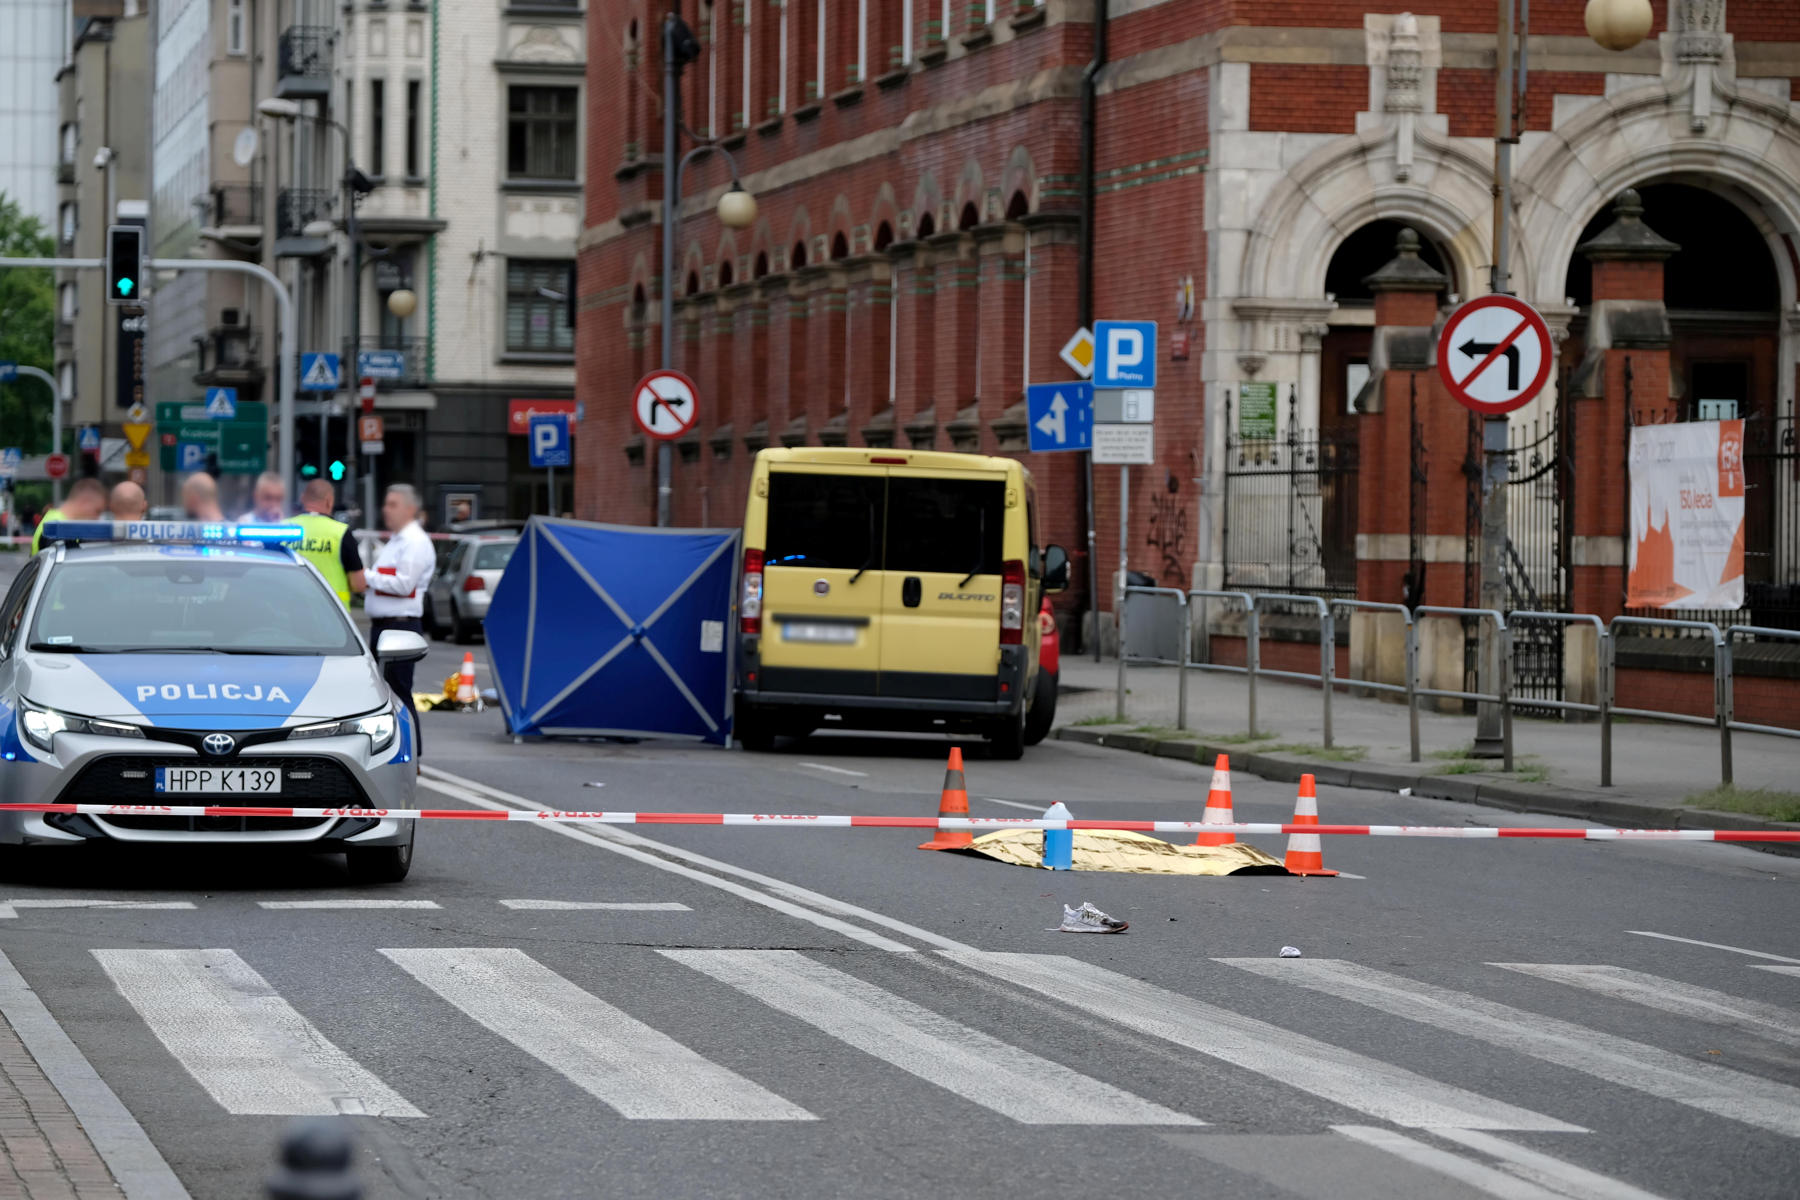
[[1300,428],[1294,389],[1260,428],[1233,405],[1226,392],[1226,588],[1355,596],[1355,437]]

